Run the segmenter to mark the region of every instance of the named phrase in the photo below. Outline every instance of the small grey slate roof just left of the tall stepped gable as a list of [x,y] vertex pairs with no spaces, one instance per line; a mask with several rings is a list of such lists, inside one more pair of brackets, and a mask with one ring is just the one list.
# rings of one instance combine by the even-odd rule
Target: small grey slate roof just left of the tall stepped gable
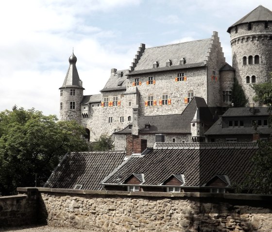
[[[118,78],[118,74],[121,72],[123,72],[123,76]],[[127,73],[128,70],[118,70],[116,73],[112,73],[101,92],[126,90],[127,77],[125,76],[125,74]],[[118,86],[120,83],[121,86]]]

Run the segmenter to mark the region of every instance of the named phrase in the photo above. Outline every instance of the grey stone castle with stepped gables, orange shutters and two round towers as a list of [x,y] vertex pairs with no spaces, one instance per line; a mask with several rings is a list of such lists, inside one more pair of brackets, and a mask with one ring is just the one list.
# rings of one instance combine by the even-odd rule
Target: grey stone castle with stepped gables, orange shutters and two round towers
[[[170,117],[182,115],[194,99],[195,108],[187,109],[191,112],[187,119],[194,119],[190,135],[180,131],[179,137],[170,136],[168,142],[169,139],[188,142],[193,138],[199,141],[210,126],[198,116],[200,99],[207,107],[230,107],[231,87],[236,77],[249,103],[254,103],[251,84],[266,82],[272,71],[272,12],[269,9],[258,6],[227,32],[231,36],[232,66],[225,62],[216,31],[211,38],[185,43],[150,48],[141,44],[130,68],[111,69],[101,94],[95,95],[83,94],[77,58],[72,54],[64,83],[59,88],[60,119],[74,119],[85,126],[89,141],[102,133],[118,135],[125,128],[131,130],[119,134],[139,136],[141,117],[143,129],[149,129],[152,116],[161,116],[155,123],[168,124]],[[202,107],[205,106],[202,104]],[[150,140],[150,134],[143,138]],[[156,138],[152,142],[167,140],[162,139],[164,135],[159,130],[153,134]]]

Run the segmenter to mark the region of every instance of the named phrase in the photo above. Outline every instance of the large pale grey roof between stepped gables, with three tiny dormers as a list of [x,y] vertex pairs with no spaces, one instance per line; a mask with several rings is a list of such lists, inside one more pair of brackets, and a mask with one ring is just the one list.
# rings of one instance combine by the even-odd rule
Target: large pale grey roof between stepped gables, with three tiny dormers
[[[204,63],[211,39],[195,40],[166,46],[146,48],[135,67],[135,71],[153,69],[153,63],[158,62],[158,68],[166,67],[166,62],[172,66],[180,65],[180,60],[185,58],[186,65]],[[153,69],[155,70],[155,69]]]

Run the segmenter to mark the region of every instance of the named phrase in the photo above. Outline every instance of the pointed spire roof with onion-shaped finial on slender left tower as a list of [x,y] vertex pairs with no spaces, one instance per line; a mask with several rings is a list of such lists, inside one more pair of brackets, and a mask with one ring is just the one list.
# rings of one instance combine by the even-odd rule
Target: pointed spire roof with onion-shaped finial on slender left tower
[[82,85],[80,84],[81,80],[78,76],[76,62],[77,62],[77,58],[73,53],[69,57],[69,68],[61,88],[73,87],[73,88],[84,89]]

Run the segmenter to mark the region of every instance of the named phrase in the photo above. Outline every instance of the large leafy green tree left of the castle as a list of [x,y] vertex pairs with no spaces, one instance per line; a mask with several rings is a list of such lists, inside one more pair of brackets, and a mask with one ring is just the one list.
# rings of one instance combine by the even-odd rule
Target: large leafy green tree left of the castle
[[34,108],[0,112],[0,194],[16,187],[43,185],[67,152],[87,151],[85,130]]

